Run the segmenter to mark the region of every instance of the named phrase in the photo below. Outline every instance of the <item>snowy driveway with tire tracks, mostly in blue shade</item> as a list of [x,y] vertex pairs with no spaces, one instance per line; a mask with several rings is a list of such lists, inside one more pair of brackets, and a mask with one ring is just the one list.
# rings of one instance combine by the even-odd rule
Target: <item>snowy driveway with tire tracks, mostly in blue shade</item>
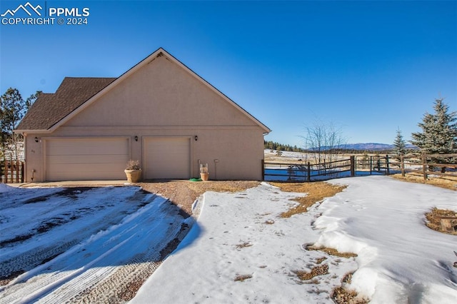
[[193,221],[138,187],[0,184],[0,206],[0,303],[125,302]]

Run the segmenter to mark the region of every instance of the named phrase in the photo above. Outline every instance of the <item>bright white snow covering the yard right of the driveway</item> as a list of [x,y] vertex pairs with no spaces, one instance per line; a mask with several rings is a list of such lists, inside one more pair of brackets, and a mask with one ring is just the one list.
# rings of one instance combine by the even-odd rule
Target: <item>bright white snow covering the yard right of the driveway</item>
[[[205,193],[189,235],[131,303],[333,303],[331,290],[353,271],[346,286],[371,303],[456,303],[457,237],[424,225],[433,207],[457,211],[456,191],[386,176],[331,183],[348,188],[291,218],[279,214],[303,194],[266,183]],[[312,243],[358,257],[304,249]],[[327,275],[298,280],[294,271],[323,257]]]

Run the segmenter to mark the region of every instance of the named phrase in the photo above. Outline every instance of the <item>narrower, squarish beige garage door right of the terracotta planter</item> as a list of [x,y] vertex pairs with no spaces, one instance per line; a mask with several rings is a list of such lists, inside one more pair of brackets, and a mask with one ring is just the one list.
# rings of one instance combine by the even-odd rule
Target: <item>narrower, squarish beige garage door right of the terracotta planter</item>
[[146,138],[144,141],[145,178],[191,177],[191,141],[189,138]]

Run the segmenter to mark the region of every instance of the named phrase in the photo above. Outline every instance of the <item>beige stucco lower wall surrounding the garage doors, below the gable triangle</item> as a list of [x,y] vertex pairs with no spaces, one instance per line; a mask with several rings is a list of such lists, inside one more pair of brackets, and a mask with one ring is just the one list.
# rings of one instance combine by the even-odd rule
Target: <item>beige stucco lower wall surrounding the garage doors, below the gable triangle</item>
[[[40,141],[36,143],[34,137]],[[144,138],[151,136],[187,136],[191,138],[191,176],[199,176],[199,161],[209,164],[210,178],[219,180],[261,180],[263,159],[263,134],[259,127],[196,127],[196,128],[150,128],[150,127],[65,127],[51,134],[28,134],[26,136],[26,179],[44,181],[44,143],[48,138],[81,138],[82,136],[102,138],[129,136],[129,151],[132,159],[141,164],[148,157],[144,155]],[[134,137],[138,136],[138,141]],[[195,136],[198,140],[195,141]],[[214,160],[219,162],[215,163]]]

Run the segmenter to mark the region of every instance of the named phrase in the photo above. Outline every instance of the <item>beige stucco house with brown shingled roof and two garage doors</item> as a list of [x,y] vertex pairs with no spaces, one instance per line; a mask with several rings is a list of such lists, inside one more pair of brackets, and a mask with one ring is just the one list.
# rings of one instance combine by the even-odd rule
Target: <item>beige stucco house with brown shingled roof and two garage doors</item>
[[119,78],[64,78],[16,128],[26,181],[188,179],[208,163],[213,180],[261,180],[271,130],[164,49]]

